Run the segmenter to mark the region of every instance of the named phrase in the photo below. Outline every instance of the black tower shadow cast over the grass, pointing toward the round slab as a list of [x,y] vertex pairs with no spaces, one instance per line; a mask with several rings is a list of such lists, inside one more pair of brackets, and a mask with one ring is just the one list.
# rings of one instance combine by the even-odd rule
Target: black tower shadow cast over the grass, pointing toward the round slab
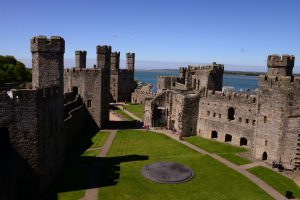
[[117,157],[81,156],[74,162],[64,166],[60,176],[53,183],[50,191],[43,199],[58,200],[58,194],[116,185],[120,177],[120,164],[139,160],[148,160],[144,155],[126,155]]

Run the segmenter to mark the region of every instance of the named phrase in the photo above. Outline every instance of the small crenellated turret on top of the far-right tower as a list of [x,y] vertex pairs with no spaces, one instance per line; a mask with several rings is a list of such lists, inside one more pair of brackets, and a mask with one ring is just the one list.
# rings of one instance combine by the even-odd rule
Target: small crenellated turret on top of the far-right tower
[[268,76],[292,76],[295,57],[293,55],[268,56]]

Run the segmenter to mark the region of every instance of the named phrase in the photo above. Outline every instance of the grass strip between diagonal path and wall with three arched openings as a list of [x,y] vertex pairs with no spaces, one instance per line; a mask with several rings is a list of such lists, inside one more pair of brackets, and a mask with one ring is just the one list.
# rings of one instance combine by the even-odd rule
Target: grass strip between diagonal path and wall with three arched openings
[[200,136],[187,137],[185,138],[185,140],[210,153],[216,153],[219,156],[237,165],[244,165],[244,164],[251,163],[250,160],[235,155],[236,153],[248,151],[248,149],[246,148],[236,147],[230,144],[209,140]]

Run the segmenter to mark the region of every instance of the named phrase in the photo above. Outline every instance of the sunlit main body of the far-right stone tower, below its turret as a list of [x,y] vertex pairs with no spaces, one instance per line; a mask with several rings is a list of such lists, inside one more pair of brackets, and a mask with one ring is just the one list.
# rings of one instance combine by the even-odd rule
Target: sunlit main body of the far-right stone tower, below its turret
[[300,166],[300,77],[259,77],[258,126],[254,156]]

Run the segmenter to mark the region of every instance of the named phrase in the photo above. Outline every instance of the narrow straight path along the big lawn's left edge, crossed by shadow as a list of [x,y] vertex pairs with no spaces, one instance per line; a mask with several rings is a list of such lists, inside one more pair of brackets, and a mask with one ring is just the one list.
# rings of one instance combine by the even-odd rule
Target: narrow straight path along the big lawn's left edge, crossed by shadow
[[[110,131],[110,135],[108,136],[106,142],[104,143],[103,147],[101,148],[101,152],[97,157],[106,157],[107,153],[109,151],[110,146],[112,145],[113,140],[115,139],[117,130],[108,130]],[[101,166],[99,166],[101,163],[97,163],[93,166],[92,171],[94,172],[94,176],[91,179],[91,184],[92,185],[97,185],[97,184],[93,184],[93,183],[98,183],[99,180],[98,178],[100,177],[100,173],[101,171],[99,170],[99,168],[101,168]],[[86,190],[85,192],[85,196],[84,196],[84,200],[98,200],[98,190],[99,188],[91,188]]]

